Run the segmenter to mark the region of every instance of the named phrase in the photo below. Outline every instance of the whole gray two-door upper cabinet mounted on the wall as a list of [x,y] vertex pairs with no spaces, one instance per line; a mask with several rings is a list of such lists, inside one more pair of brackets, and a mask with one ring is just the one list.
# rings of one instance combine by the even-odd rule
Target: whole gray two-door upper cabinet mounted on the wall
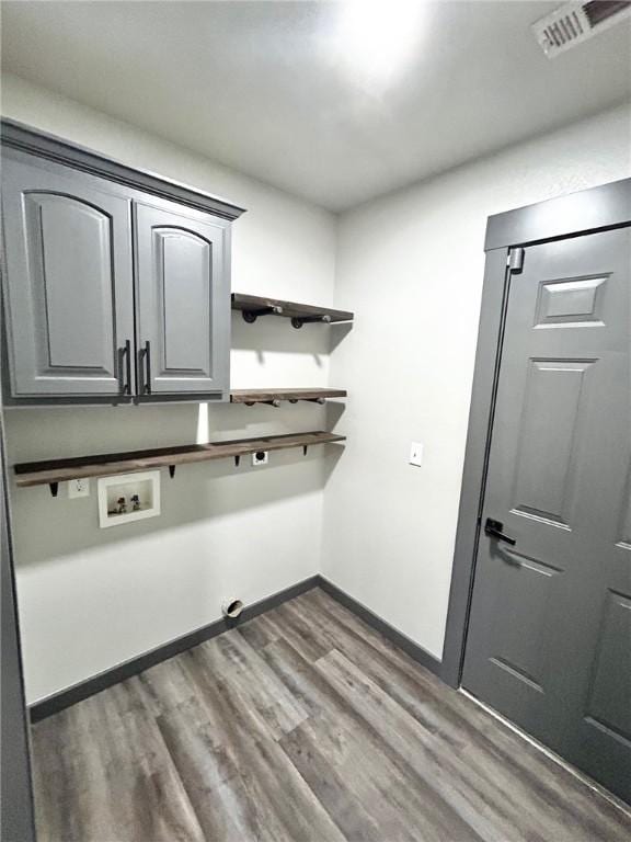
[[227,400],[242,209],[2,129],[7,402]]

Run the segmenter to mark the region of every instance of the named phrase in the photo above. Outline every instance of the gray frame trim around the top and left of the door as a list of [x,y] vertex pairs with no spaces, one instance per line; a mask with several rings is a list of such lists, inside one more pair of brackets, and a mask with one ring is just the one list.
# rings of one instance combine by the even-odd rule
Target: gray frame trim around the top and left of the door
[[[631,178],[490,216],[441,678],[459,687],[475,574],[512,262],[516,251],[631,225]],[[516,262],[517,261],[517,262]]]

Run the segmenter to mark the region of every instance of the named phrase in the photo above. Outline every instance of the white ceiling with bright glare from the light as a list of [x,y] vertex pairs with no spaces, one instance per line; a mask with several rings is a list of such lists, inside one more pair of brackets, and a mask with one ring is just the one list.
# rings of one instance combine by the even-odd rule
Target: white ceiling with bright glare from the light
[[2,62],[335,210],[631,98],[628,22],[549,60],[529,26],[559,3],[418,5],[388,73],[308,1],[3,2]]

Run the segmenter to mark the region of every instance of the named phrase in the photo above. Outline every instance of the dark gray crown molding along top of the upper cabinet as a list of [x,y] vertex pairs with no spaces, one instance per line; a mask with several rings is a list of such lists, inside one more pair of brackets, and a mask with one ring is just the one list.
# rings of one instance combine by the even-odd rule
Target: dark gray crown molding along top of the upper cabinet
[[0,128],[2,145],[5,147],[36,155],[119,184],[126,184],[161,198],[174,200],[230,221],[238,219],[241,214],[245,213],[245,208],[209,193],[204,193],[188,184],[158,175],[149,170],[128,167],[121,161],[106,158],[99,152],[71,144],[55,135],[34,130],[22,123],[2,120]]

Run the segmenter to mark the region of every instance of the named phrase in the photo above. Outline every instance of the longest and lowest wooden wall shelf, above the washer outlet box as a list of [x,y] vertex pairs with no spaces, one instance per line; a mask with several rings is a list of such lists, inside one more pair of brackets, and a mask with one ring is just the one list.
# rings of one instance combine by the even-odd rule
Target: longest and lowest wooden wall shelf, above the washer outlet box
[[70,459],[48,459],[46,462],[24,462],[13,466],[15,482],[24,488],[30,486],[50,486],[57,497],[58,483],[81,477],[105,477],[112,474],[129,474],[169,466],[171,476],[176,465],[193,462],[225,459],[233,457],[239,465],[241,456],[259,451],[285,451],[290,447],[307,448],[316,444],[343,442],[344,435],[314,431],[310,433],[289,433],[288,435],[268,435],[259,439],[232,439],[227,442],[210,444],[185,444],[174,447],[158,447],[151,451],[129,451],[127,453],[105,453],[93,456],[78,456]]

